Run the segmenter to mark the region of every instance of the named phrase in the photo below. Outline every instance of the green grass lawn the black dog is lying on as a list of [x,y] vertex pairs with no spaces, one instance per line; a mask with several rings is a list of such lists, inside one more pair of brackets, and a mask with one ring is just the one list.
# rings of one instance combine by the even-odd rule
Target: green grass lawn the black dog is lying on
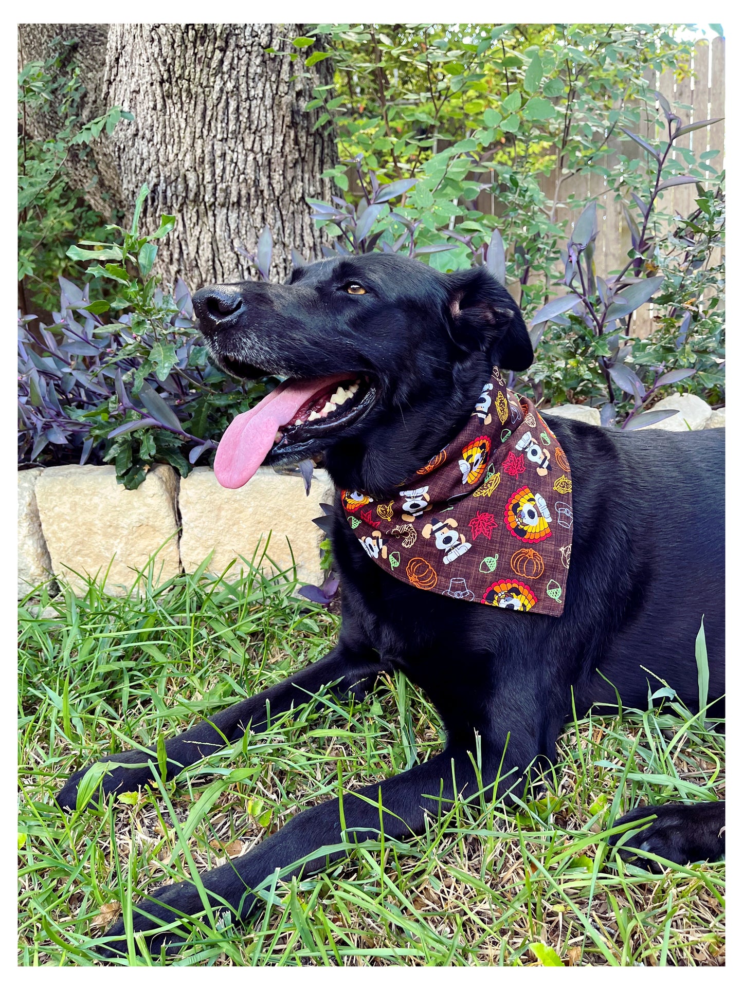
[[[322,656],[338,619],[294,587],[249,570],[236,584],[143,577],[126,600],[91,583],[21,604],[20,964],[94,964],[143,891],[248,851],[339,781],[381,780],[440,749],[428,700],[385,676],[361,703],[326,690],[152,790],[55,809],[80,765],[157,751]],[[641,800],[722,796],[722,737],[663,705],[566,727],[541,800],[456,802],[419,839],[349,846],[325,873],[271,880],[246,928],[225,914],[184,923],[172,964],[724,964],[724,864],[654,875],[607,847],[614,816]],[[129,964],[159,964],[130,947]]]

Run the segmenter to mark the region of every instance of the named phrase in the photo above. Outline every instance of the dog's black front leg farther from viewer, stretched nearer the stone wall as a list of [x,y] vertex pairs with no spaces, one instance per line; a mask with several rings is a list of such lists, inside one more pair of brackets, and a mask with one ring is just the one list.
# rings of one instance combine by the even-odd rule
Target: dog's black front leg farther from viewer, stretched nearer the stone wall
[[[382,660],[371,650],[338,644],[322,660],[297,671],[280,684],[246,698],[168,740],[165,743],[167,774],[174,776],[183,767],[191,766],[208,753],[240,739],[249,726],[260,732],[265,729],[267,713],[272,717],[288,711],[292,706],[301,705],[325,685],[340,681],[341,691],[355,691],[363,695],[370,679],[382,669],[385,669]],[[155,752],[134,749],[103,756],[99,762],[125,764],[112,766],[100,784],[103,794],[118,794],[136,791],[152,781],[153,771],[149,762],[157,766],[158,757]],[[84,767],[73,773],[59,791],[56,801],[61,808],[74,810],[77,788],[87,770],[88,767]]]

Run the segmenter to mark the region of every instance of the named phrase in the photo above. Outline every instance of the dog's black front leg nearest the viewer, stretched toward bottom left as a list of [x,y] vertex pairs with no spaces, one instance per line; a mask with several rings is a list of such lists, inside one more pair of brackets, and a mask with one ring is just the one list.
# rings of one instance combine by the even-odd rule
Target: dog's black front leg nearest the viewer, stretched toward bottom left
[[[276,870],[283,878],[305,876],[346,854],[340,849],[313,855],[323,846],[378,839],[380,830],[393,839],[423,832],[425,811],[436,817],[439,811],[446,814],[450,808],[455,793],[453,779],[458,793],[464,792],[469,797],[477,792],[477,774],[470,752],[450,748],[380,784],[347,792],[343,795],[342,808],[338,800],[308,808],[246,855],[202,874],[210,906],[216,915],[228,909],[233,917],[245,918],[262,903],[254,891]],[[305,858],[303,864],[292,865]],[[139,910],[135,909],[133,927],[135,932],[154,933],[147,941],[151,952],[157,955],[163,943],[169,941],[172,949],[183,936],[173,931],[158,934],[156,930],[184,916],[198,915],[205,907],[192,883],[160,887],[140,903]],[[103,954],[126,953],[123,921],[117,922],[107,936],[112,938]]]

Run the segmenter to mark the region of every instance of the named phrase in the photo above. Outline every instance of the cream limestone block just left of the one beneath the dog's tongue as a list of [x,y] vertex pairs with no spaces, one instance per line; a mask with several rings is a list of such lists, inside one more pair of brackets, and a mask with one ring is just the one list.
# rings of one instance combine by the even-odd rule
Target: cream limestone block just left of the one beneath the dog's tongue
[[133,491],[117,482],[113,465],[48,467],[37,501],[54,573],[84,590],[74,572],[103,579],[108,571],[106,590],[121,595],[156,552],[156,584],[179,573],[177,492],[178,476],[167,464]]

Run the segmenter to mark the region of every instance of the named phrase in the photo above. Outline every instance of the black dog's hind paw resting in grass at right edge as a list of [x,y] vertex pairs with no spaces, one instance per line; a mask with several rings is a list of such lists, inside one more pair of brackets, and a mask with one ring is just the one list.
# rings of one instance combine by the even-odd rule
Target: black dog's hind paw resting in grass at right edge
[[[723,801],[634,808],[617,819],[614,826],[629,826],[651,816],[654,816],[653,821],[639,826],[637,834],[619,846],[619,854],[623,859],[639,860],[651,872],[662,873],[663,865],[643,856],[643,852],[652,852],[681,865],[724,858],[725,804]],[[616,845],[624,835],[626,833],[612,836],[609,844]]]

